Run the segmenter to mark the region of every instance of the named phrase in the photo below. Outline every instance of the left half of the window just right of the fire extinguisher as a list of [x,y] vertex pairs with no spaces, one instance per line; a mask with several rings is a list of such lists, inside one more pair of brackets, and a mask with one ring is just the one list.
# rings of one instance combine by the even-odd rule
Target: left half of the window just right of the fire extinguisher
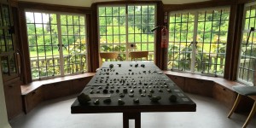
[[[171,14],[169,16],[169,47],[168,65],[169,69],[189,71],[191,63],[191,50],[189,46],[193,39],[194,20],[189,20],[192,14],[189,12]],[[193,16],[194,17],[194,16]],[[192,32],[189,32],[192,31]]]

